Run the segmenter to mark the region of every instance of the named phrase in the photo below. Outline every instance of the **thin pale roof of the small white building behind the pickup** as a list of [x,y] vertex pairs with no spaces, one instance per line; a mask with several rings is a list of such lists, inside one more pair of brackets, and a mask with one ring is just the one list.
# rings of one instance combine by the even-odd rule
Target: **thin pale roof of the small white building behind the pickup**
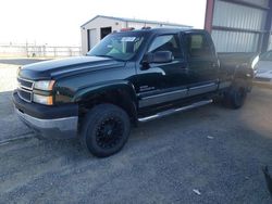
[[175,24],[175,23],[169,23],[169,22],[157,22],[157,21],[148,21],[148,20],[136,20],[136,18],[128,18],[128,17],[113,17],[113,16],[107,16],[107,15],[97,15],[83,24],[81,27],[84,27],[88,23],[92,22],[94,20],[98,17],[103,17],[108,20],[115,20],[115,21],[121,21],[121,22],[135,22],[135,23],[147,23],[147,24],[162,24],[162,25],[169,25],[169,26],[180,26],[180,27],[188,27],[191,28],[193,26],[188,25],[183,25],[183,24]]

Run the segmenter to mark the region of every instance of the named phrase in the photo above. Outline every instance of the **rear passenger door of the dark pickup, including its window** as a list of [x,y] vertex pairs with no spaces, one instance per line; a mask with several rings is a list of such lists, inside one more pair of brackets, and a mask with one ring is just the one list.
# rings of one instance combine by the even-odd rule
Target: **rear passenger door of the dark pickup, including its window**
[[195,31],[184,36],[189,73],[188,94],[197,95],[218,88],[219,62],[207,33]]

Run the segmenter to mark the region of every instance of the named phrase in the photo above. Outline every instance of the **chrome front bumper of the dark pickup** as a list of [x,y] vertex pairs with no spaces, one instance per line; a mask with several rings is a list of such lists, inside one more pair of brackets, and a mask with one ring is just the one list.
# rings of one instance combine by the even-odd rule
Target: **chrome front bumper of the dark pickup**
[[78,117],[39,119],[15,109],[18,118],[29,128],[45,137],[72,138],[77,135]]

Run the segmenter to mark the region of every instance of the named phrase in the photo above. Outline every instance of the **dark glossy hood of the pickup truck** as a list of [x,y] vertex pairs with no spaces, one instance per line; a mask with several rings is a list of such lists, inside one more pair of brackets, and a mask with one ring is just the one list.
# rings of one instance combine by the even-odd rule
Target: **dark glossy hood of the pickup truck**
[[51,60],[22,66],[18,76],[30,80],[65,77],[85,72],[123,67],[124,62],[100,56],[77,56]]

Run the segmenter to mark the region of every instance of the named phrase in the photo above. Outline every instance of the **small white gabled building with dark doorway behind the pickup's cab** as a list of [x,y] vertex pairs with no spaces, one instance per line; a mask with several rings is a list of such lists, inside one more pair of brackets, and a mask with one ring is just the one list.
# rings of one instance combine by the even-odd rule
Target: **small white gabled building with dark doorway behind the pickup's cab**
[[97,15],[81,26],[82,31],[82,52],[86,54],[97,42],[113,31],[120,31],[123,28],[134,27],[182,27],[190,28],[191,26],[173,24],[168,22],[156,22],[145,20],[134,20],[124,17],[112,17]]

